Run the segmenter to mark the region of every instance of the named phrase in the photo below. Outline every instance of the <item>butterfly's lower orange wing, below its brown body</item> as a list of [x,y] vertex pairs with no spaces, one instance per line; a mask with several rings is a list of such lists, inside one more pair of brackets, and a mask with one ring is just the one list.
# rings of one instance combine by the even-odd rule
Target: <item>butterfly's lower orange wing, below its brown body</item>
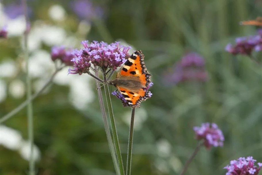
[[141,101],[149,98],[148,91],[144,91],[142,88],[137,93],[119,86],[117,89],[123,95],[129,106],[133,108],[139,108]]

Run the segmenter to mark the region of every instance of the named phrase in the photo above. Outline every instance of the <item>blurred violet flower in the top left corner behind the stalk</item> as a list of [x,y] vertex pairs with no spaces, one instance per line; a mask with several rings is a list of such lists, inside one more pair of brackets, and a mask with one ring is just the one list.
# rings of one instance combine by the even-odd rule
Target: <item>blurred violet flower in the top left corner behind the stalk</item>
[[[4,7],[4,12],[9,18],[15,19],[20,15],[24,15],[24,7],[22,4],[12,3]],[[32,13],[32,10],[27,7],[27,12],[29,16]]]

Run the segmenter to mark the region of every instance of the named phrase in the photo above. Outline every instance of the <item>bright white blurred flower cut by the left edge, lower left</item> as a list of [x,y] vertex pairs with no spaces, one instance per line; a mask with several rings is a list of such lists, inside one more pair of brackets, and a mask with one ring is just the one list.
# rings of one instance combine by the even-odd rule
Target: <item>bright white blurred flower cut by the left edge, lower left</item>
[[0,125],[0,144],[10,150],[17,150],[22,144],[22,135],[15,129]]

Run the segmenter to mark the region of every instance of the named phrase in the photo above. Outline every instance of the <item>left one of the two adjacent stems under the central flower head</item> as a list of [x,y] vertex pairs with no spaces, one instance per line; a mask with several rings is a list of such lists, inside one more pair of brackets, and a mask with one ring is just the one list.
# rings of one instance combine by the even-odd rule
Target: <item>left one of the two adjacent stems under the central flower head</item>
[[[95,70],[95,76],[98,77],[98,71],[97,70]],[[119,166],[118,166],[118,163],[117,163],[117,159],[116,159],[116,152],[115,152],[113,140],[112,140],[111,133],[110,133],[110,128],[109,128],[108,121],[107,121],[106,109],[105,109],[104,102],[103,102],[103,96],[102,96],[101,88],[99,88],[100,83],[98,82],[98,80],[95,80],[95,84],[96,84],[96,87],[98,88],[97,93],[98,93],[98,98],[99,98],[100,108],[101,108],[101,111],[102,111],[105,129],[106,129],[106,138],[108,140],[110,153],[111,153],[111,156],[112,156],[112,159],[113,159],[116,174],[121,175],[120,169],[119,169]]]

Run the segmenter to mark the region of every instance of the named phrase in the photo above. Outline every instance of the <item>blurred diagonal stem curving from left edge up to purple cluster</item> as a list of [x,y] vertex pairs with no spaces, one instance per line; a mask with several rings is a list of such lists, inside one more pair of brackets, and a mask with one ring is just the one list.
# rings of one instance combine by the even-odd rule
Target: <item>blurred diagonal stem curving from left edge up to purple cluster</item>
[[17,114],[20,110],[22,110],[25,106],[27,106],[27,104],[32,101],[33,99],[35,99],[39,94],[41,94],[48,86],[49,84],[53,81],[55,75],[58,73],[58,71],[60,71],[63,67],[60,67],[58,69],[56,69],[56,71],[52,74],[52,76],[50,77],[50,79],[45,83],[45,85],[34,95],[31,96],[30,99],[26,99],[26,101],[24,101],[22,104],[20,104],[19,106],[17,106],[14,110],[12,110],[11,112],[9,112],[8,114],[6,114],[5,116],[3,116],[2,118],[0,118],[0,124],[7,121],[9,118],[11,118],[12,116],[14,116],[15,114]]

